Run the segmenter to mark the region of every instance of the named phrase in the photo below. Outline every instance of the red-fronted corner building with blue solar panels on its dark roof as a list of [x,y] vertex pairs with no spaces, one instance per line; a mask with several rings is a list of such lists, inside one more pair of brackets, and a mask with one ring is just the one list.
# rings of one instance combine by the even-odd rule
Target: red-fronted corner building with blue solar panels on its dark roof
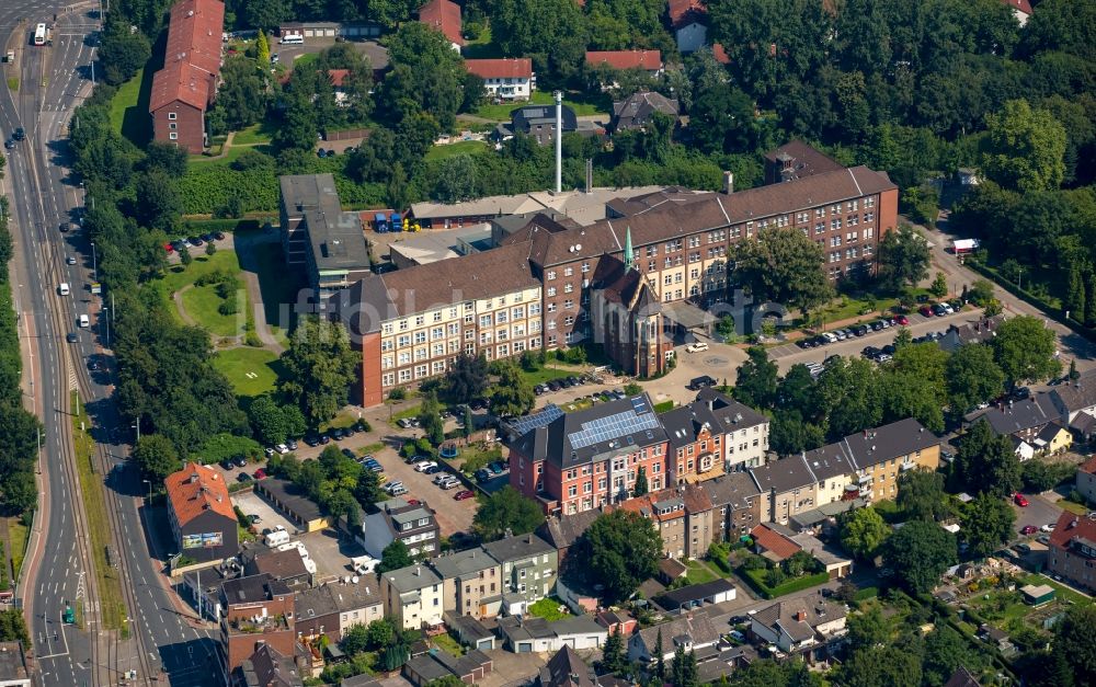
[[651,491],[669,484],[669,442],[646,393],[567,413],[510,449],[510,483],[548,514],[625,501],[642,470]]

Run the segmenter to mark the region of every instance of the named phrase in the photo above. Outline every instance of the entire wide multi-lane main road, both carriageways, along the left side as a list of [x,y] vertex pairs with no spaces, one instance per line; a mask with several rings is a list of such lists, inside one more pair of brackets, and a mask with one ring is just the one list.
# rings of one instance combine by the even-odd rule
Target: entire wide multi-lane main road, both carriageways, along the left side
[[[80,231],[58,230],[61,221],[78,218],[77,208],[83,204],[81,190],[66,169],[65,138],[72,110],[90,92],[94,47],[87,38],[98,28],[98,9],[93,2],[70,5],[67,11],[42,1],[0,3],[0,36],[12,36],[9,45],[19,50],[20,78],[16,92],[0,94],[0,130],[7,137],[22,126],[27,135],[10,151],[3,182],[12,203],[16,243],[15,297],[21,300],[20,333],[31,344],[28,367],[41,396],[35,398],[35,409],[46,428],[43,536],[28,552],[25,608],[45,685],[117,684],[130,669],[137,671],[138,684],[163,673],[172,685],[208,684],[217,682],[212,676],[219,673],[214,669],[216,642],[208,630],[192,627],[176,610],[174,594],[161,575],[162,564],[149,553],[141,512],[145,485],[122,460],[128,449],[110,438],[115,436],[117,414],[111,401],[107,313],[102,308],[109,304],[91,295],[93,248]],[[28,27],[50,22],[55,11],[53,44],[28,45]],[[68,265],[68,255],[77,256],[77,264]],[[57,295],[61,282],[70,285],[70,296]],[[89,329],[76,325],[80,313],[89,314]],[[66,343],[68,332],[77,332],[79,341]],[[90,374],[90,356],[106,362],[107,368]],[[110,476],[106,503],[113,548],[121,552],[117,568],[130,621],[129,640],[99,627],[89,538],[80,529],[85,526],[71,471],[67,413],[68,394],[75,389],[83,399],[82,412],[101,427],[94,434],[99,442],[94,462]],[[76,519],[78,514],[80,519]],[[90,599],[83,630],[62,626],[65,604],[81,595]]]

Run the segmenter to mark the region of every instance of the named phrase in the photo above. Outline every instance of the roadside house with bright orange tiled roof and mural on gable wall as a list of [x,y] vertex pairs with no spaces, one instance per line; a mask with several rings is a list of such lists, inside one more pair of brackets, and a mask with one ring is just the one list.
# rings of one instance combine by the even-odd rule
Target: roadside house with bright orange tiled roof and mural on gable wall
[[163,481],[168,523],[179,551],[198,562],[219,561],[240,550],[236,512],[225,478],[209,466],[191,462]]

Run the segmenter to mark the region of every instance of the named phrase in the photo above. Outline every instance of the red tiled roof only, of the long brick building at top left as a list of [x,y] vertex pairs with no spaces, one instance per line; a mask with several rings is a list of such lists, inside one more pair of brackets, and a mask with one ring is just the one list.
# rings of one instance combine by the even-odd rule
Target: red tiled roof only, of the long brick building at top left
[[220,71],[225,3],[182,0],[171,8],[163,69],[152,77],[149,112],[180,100],[205,110]]

